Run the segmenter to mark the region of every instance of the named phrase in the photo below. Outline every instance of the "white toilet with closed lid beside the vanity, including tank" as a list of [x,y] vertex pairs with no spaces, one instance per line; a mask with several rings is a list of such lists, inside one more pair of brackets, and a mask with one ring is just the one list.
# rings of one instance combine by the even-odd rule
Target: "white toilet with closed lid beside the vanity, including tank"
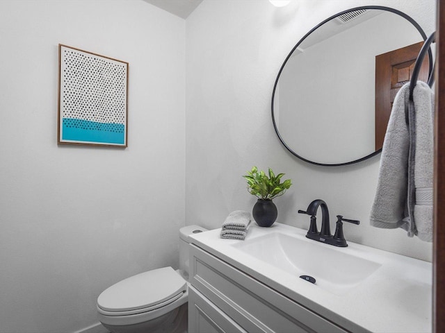
[[113,333],[185,333],[188,314],[188,236],[206,229],[179,230],[179,271],[163,267],[134,275],[97,298],[99,321]]

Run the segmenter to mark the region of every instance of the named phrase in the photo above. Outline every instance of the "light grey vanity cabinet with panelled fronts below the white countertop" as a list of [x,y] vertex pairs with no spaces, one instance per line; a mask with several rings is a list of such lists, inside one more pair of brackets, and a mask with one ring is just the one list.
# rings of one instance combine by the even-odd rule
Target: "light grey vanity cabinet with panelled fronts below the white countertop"
[[282,293],[190,246],[188,332],[349,332]]

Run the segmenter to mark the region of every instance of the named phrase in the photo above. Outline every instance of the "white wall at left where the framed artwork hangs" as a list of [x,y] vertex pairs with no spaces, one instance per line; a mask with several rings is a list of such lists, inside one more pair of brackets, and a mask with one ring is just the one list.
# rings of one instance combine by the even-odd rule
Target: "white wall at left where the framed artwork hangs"
[[[129,147],[57,146],[58,43],[129,62]],[[0,332],[73,332],[178,264],[185,21],[140,0],[0,1]]]

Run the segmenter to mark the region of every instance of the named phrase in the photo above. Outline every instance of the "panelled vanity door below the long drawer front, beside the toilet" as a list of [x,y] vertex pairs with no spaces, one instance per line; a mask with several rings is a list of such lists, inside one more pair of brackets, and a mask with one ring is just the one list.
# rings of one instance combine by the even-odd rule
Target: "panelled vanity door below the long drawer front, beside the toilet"
[[247,333],[199,291],[188,287],[188,333]]

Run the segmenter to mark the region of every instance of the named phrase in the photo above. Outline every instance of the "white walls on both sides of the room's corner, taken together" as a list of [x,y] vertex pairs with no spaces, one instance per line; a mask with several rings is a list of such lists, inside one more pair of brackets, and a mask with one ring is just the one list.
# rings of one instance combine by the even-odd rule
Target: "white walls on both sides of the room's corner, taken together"
[[[433,30],[434,0],[372,2]],[[1,0],[0,332],[94,325],[106,287],[177,266],[184,217],[218,228],[251,209],[241,175],[254,164],[293,180],[276,200],[279,221],[307,228],[297,210],[324,198],[331,216],[362,220],[345,226],[348,239],[430,259],[430,244],[369,227],[379,157],[314,167],[287,153],[271,123],[273,83],[293,45],[364,4],[209,0],[184,22],[138,0]],[[57,146],[58,43],[129,62],[128,148]]]

